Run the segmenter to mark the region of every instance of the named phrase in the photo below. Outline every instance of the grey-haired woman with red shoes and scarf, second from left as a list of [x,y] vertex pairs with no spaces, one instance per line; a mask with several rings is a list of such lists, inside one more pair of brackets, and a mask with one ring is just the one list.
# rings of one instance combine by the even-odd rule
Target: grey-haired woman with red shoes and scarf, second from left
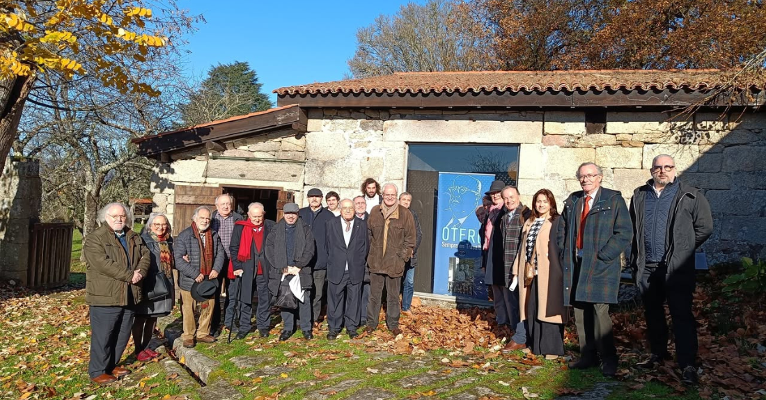
[[[143,283],[143,300],[136,304],[136,320],[133,322],[133,343],[136,344],[136,359],[149,361],[159,356],[159,353],[149,348],[158,317],[165,317],[173,310],[175,301],[175,284],[173,282],[173,238],[168,218],[164,214],[152,213],[146,221],[141,239],[151,252],[152,263],[149,265],[149,275]],[[157,281],[166,278],[168,293],[159,293]],[[152,298],[150,298],[152,297]]]

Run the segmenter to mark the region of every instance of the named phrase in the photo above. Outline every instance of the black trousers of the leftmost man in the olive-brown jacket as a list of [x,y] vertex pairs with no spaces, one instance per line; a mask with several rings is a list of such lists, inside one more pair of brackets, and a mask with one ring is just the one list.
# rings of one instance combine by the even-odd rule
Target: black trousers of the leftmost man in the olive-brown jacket
[[112,373],[128,346],[132,327],[130,307],[90,307],[90,379]]

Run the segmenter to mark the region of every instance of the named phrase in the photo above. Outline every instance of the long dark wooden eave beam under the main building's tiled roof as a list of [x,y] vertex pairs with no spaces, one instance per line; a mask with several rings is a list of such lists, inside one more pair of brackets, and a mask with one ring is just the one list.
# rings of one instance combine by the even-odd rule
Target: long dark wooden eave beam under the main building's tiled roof
[[[453,107],[687,107],[762,106],[766,94],[752,89],[749,96],[726,99],[711,97],[712,91],[693,89],[617,89],[602,91],[544,92],[442,92],[442,93],[312,93],[280,94],[278,106],[296,104],[305,108],[434,108]],[[728,100],[728,101],[727,101]]]

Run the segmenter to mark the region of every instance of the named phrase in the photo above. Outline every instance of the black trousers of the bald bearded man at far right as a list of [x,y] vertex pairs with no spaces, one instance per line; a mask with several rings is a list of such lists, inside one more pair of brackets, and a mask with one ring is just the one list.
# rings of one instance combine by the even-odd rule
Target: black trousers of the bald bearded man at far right
[[697,321],[692,314],[695,277],[673,277],[676,284],[667,281],[667,269],[647,264],[643,273],[643,310],[647,317],[647,333],[652,354],[665,356],[668,350],[668,326],[665,319],[665,301],[673,318],[673,336],[676,337],[676,356],[679,366],[695,366],[697,358]]

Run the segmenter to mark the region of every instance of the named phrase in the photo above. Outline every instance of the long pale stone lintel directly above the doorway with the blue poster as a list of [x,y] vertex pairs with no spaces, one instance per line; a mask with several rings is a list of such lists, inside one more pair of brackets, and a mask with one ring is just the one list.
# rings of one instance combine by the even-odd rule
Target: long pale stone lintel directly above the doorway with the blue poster
[[[413,121],[392,120],[383,125],[385,141],[441,141],[466,143],[540,143],[542,118],[539,114],[515,114],[502,121]],[[502,115],[498,115],[502,118]]]

